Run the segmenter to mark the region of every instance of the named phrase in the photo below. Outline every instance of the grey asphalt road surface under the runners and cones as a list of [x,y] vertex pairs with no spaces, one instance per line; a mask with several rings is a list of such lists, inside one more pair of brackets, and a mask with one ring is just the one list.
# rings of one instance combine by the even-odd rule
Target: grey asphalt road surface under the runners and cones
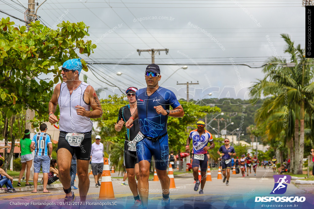
[[[265,176],[268,174],[267,176]],[[208,205],[214,206],[217,204],[217,208],[224,208],[225,206],[230,206],[230,208],[250,208],[244,206],[244,202],[254,201],[255,196],[271,196],[269,193],[272,191],[274,186],[272,170],[267,172],[264,168],[257,169],[257,175],[254,176],[253,170],[249,176],[241,177],[241,174],[236,174],[230,176],[229,186],[226,186],[222,180],[217,180],[217,171],[211,173],[212,181],[207,181],[204,187],[204,194],[200,195],[198,191],[194,191],[194,180],[192,174],[186,174],[183,176],[175,177],[176,189],[170,192],[171,207],[181,208],[199,208],[208,207]],[[112,176],[117,176],[117,173],[111,174]],[[263,176],[264,175],[264,176]],[[122,177],[121,177],[122,178]],[[133,205],[133,195],[128,186],[121,185],[121,179],[112,178],[112,185],[114,189],[114,194],[116,200],[106,200],[98,201],[100,187],[95,188],[95,182],[93,176],[89,176],[90,186],[87,196],[88,204],[94,204],[95,202],[103,202],[103,206],[88,205],[87,208],[128,208]],[[78,179],[75,181],[75,186],[78,186]],[[308,187],[308,186],[304,186]],[[12,205],[22,204],[24,202],[40,201],[40,202],[57,202],[61,204],[64,199],[64,193],[62,187],[54,190],[50,190],[51,193],[38,193],[33,194],[30,191],[18,192],[15,194],[2,194],[0,196],[0,207],[5,206],[5,204]],[[79,196],[79,191],[74,190],[75,194]],[[295,185],[294,180],[287,186],[287,191],[284,196],[291,196],[297,194],[298,196],[312,195],[311,191],[308,189],[302,189],[301,185]],[[159,181],[149,181],[149,204],[151,208],[160,207],[161,202],[161,186]],[[78,198],[79,199],[79,198]],[[112,202],[111,202],[112,201]],[[11,202],[11,203],[10,203]],[[106,203],[107,202],[107,203]],[[109,206],[109,204],[113,204]],[[50,206],[49,208],[57,208],[56,206]],[[17,208],[18,206],[12,208]],[[44,206],[35,206],[35,208],[44,208]],[[254,207],[254,206],[252,206]],[[26,207],[20,207],[26,208]],[[74,206],[75,208],[75,206]]]

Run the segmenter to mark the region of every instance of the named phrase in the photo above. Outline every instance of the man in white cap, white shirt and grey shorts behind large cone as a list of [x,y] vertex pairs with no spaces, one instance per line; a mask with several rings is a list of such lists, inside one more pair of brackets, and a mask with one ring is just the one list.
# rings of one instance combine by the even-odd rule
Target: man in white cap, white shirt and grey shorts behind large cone
[[97,135],[96,142],[92,144],[92,149],[90,151],[90,160],[92,163],[92,172],[95,179],[95,187],[99,187],[99,178],[102,175],[102,169],[104,167],[104,144],[100,143],[100,136]]

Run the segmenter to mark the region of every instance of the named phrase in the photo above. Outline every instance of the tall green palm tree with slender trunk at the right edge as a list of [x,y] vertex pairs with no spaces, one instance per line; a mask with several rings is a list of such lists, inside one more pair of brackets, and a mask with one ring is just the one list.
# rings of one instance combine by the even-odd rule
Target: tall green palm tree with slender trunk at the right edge
[[[287,66],[287,60],[282,57],[270,57],[263,68],[264,79],[258,80],[252,88],[251,94],[257,98],[261,95],[273,96],[267,103],[267,112],[277,112],[285,108],[285,112],[294,111],[294,167],[293,172],[302,173],[304,155],[304,118],[306,111],[312,112],[314,92],[313,60],[305,58],[305,50],[300,44],[296,47],[288,34],[280,34],[286,42],[285,53],[289,53],[290,62],[294,67]],[[257,118],[257,122],[263,119]],[[290,126],[291,127],[291,126]]]

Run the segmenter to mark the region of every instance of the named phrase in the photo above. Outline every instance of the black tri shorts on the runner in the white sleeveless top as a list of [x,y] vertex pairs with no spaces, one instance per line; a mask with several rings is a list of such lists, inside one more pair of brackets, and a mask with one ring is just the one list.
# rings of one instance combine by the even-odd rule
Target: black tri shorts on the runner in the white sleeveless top
[[84,139],[79,147],[70,146],[68,141],[65,139],[65,136],[67,135],[67,133],[68,132],[60,131],[58,147],[57,147],[56,152],[58,152],[60,148],[65,148],[69,150],[72,157],[73,157],[73,154],[75,153],[76,159],[90,160],[90,151],[92,149],[92,136],[91,136],[92,131],[84,133]]

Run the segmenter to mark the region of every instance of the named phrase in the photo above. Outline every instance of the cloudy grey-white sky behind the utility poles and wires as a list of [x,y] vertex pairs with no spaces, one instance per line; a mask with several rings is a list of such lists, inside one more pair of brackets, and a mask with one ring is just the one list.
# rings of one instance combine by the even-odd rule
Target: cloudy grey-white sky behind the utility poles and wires
[[[26,0],[20,2],[27,7]],[[0,0],[0,8],[24,19],[25,9],[18,0]],[[263,78],[262,68],[221,64],[258,67],[274,55],[274,50],[289,59],[283,53],[281,33],[289,34],[295,44],[305,45],[305,8],[301,0],[47,0],[37,14],[50,28],[60,19],[83,21],[90,27],[86,39],[95,42],[97,48],[82,58],[93,63],[95,75],[91,71],[84,73],[92,86],[110,88],[100,95],[102,98],[113,91],[120,94],[114,86],[146,86],[144,71],[151,56],[148,52],[138,55],[137,49],[169,49],[168,54],[161,51],[155,56],[161,68],[161,82],[188,65],[161,85],[171,88],[178,98],[186,98],[186,85],[177,82],[199,83],[190,85],[190,99],[208,98],[210,92],[215,98],[245,98],[241,88]],[[0,13],[0,17],[7,15]],[[273,43],[273,49],[268,42]],[[114,85],[105,84],[101,76]]]

